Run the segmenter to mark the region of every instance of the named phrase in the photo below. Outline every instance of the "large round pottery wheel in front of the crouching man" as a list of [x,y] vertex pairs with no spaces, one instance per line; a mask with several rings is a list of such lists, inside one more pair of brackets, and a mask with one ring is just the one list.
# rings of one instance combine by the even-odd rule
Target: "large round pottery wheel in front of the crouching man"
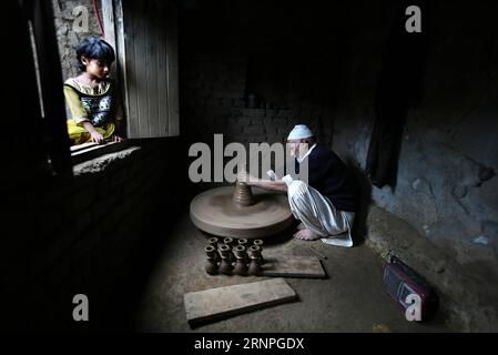
[[190,205],[195,226],[218,236],[256,239],[278,233],[293,223],[286,195],[238,187],[212,189],[195,196]]

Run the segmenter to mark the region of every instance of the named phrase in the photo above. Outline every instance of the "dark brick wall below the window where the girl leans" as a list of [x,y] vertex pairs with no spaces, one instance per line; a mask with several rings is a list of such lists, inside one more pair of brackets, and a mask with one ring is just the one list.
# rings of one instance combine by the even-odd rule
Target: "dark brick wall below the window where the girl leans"
[[[2,325],[10,329],[102,329],[130,326],[132,302],[171,206],[166,152],[175,141],[129,148],[74,166],[71,181],[20,186],[4,196]],[[181,164],[167,156],[171,164]],[[171,220],[170,220],[171,217]],[[161,231],[161,232],[157,232]],[[73,295],[89,297],[90,321],[72,320]]]

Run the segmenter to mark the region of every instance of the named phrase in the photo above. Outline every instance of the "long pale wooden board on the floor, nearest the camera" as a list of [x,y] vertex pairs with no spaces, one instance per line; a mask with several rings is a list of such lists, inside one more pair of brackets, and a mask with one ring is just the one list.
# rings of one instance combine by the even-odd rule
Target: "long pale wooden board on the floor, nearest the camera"
[[296,293],[283,278],[186,293],[186,320],[199,325],[255,308],[295,300]]

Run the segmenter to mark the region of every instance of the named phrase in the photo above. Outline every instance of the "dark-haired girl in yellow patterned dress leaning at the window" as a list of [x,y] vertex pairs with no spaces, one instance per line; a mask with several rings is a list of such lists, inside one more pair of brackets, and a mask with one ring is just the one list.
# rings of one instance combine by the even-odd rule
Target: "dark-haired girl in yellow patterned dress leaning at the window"
[[81,74],[64,82],[64,97],[72,119],[68,120],[71,144],[120,142],[123,113],[116,83],[108,78],[114,50],[102,39],[89,37],[77,48]]

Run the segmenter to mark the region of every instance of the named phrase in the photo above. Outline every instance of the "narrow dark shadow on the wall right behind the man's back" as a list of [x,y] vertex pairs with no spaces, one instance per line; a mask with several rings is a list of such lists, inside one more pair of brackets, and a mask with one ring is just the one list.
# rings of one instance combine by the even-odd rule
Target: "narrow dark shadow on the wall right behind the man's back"
[[353,242],[354,245],[362,245],[365,242],[368,233],[367,216],[372,204],[372,183],[366,173],[352,159],[347,158],[345,164],[350,171],[355,180],[355,187],[357,191],[357,212],[355,222],[353,223]]

